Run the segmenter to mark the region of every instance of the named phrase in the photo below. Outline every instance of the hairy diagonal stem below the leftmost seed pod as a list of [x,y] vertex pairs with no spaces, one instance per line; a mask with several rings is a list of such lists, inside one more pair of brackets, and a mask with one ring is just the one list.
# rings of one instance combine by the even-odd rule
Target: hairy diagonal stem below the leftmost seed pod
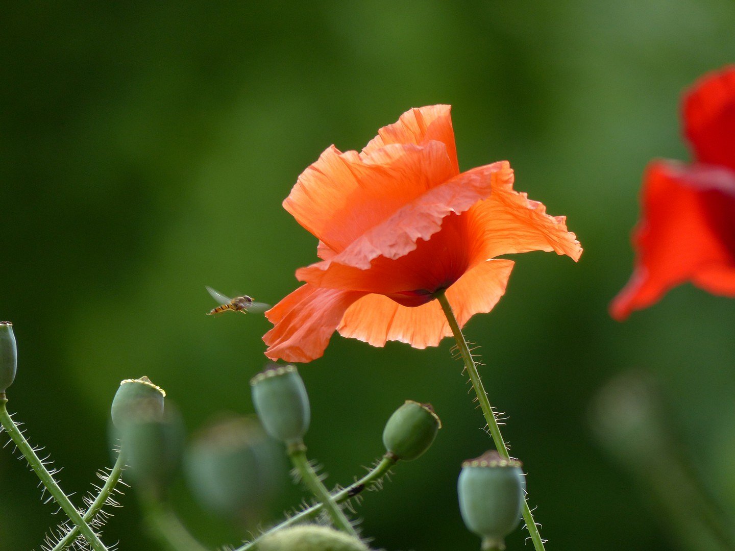
[[43,465],[43,462],[38,458],[35,451],[33,451],[33,448],[25,439],[23,433],[18,430],[15,422],[7,413],[6,404],[7,398],[0,398],[0,422],[5,429],[5,432],[8,433],[12,441],[15,442],[15,445],[18,446],[18,450],[21,450],[21,453],[36,473],[36,476],[43,483],[43,486],[46,486],[46,489],[49,490],[49,493],[54,497],[56,503],[60,505],[66,516],[71,519],[71,522],[79,527],[79,531],[82,532],[82,536],[85,536],[85,539],[87,539],[92,549],[94,551],[107,551],[107,547],[104,546],[90,525],[85,522],[85,519],[82,519],[82,515],[79,514],[79,511],[76,510],[76,507],[74,507],[73,503],[69,501],[67,495],[62,491],[56,480],[54,480],[54,477]]

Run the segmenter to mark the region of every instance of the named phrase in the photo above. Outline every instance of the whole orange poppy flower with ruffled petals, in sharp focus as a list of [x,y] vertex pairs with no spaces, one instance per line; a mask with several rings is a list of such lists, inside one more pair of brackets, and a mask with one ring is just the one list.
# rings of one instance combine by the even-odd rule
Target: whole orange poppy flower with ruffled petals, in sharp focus
[[513,262],[495,256],[581,254],[564,217],[513,190],[508,162],[459,172],[448,105],[407,111],[360,153],[331,146],[284,208],[319,239],[321,262],[297,270],[304,285],[266,312],[273,360],[316,359],[335,330],[436,346],[451,329],[435,293],[446,289],[464,325],[505,292]]

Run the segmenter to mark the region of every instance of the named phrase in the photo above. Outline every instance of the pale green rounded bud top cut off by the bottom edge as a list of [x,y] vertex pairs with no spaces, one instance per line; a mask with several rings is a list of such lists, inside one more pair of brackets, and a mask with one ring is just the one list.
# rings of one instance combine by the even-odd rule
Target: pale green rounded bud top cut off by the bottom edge
[[359,539],[326,526],[302,525],[264,536],[258,551],[370,551]]

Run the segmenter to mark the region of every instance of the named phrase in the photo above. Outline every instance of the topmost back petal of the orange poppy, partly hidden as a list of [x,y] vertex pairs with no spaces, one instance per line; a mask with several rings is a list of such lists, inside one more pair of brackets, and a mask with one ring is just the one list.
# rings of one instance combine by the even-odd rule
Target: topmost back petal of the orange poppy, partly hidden
[[384,126],[378,135],[362,150],[362,155],[371,155],[377,149],[391,143],[415,143],[422,145],[437,140],[447,146],[455,173],[459,174],[457,151],[452,128],[451,105],[429,105],[409,109],[397,123]]

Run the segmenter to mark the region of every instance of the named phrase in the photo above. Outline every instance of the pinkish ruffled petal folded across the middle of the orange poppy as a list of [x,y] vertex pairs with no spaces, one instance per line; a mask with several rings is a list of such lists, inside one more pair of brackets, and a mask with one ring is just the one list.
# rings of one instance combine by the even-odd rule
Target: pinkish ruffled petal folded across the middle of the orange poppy
[[[423,243],[441,230],[446,217],[466,212],[493,190],[510,185],[512,179],[513,171],[506,161],[467,170],[404,206],[331,259],[297,270],[296,278],[318,287],[360,289],[384,295],[409,289],[430,289],[426,278],[433,274],[426,262],[417,266],[416,262],[388,261],[415,251],[420,240]],[[464,251],[466,244],[449,243],[448,247],[451,246]],[[447,256],[445,251],[440,253]],[[436,260],[434,256],[429,262]],[[401,266],[405,270],[401,270]],[[457,277],[465,268],[466,264]],[[453,281],[456,278],[448,284]]]

